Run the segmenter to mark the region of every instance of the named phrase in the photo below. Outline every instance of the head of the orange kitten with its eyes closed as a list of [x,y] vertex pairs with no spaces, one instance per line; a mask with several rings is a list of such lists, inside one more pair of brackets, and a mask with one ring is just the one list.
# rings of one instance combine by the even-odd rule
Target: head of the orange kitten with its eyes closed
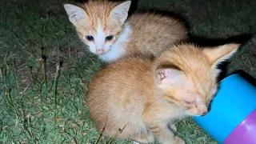
[[205,115],[217,92],[217,68],[230,58],[238,44],[199,49],[193,45],[171,47],[154,63],[155,82],[166,102],[175,103],[190,116]]

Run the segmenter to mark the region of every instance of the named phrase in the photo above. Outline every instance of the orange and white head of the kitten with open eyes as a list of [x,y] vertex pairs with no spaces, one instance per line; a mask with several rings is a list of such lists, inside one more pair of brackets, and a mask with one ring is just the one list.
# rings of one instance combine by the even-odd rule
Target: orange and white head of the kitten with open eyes
[[89,1],[81,6],[65,4],[64,8],[79,37],[94,54],[106,54],[118,35],[130,9],[130,1],[121,4]]

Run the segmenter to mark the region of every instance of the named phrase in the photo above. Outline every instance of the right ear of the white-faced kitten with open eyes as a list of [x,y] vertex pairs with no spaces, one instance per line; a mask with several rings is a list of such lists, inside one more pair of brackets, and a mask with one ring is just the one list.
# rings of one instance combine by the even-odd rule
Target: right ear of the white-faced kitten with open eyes
[[110,17],[114,18],[118,22],[125,22],[128,17],[128,11],[130,9],[130,1],[123,2],[118,6],[115,6],[113,10],[110,11]]

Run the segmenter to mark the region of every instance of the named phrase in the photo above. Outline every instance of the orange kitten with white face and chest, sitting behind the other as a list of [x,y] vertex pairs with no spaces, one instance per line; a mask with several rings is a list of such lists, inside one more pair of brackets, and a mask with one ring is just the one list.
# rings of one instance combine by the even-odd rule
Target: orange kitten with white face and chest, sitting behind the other
[[64,7],[82,42],[105,62],[129,54],[155,56],[166,46],[187,38],[186,26],[178,19],[133,14],[126,20],[130,1],[90,0]]

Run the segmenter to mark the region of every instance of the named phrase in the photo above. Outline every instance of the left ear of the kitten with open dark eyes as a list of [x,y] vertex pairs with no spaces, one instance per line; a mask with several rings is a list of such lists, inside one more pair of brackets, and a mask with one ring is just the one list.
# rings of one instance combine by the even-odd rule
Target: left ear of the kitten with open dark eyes
[[66,14],[69,16],[70,22],[72,22],[74,25],[78,25],[79,23],[88,19],[86,11],[81,7],[65,4],[64,8],[66,10]]

